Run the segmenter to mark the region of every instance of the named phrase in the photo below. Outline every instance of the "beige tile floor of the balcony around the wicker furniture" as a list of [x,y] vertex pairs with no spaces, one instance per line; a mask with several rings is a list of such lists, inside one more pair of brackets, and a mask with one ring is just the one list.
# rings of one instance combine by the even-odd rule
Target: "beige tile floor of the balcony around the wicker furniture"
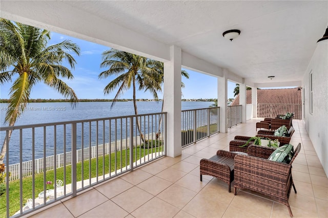
[[[254,136],[257,121],[229,128],[183,149],[179,157],[154,161],[32,217],[290,217],[285,205],[255,192],[234,195],[226,183],[210,176],[199,181],[199,160],[217,149],[229,150],[235,135]],[[293,163],[298,192],[292,190],[289,202],[294,217],[328,217],[328,179],[303,122],[293,125],[291,143],[302,143]]]

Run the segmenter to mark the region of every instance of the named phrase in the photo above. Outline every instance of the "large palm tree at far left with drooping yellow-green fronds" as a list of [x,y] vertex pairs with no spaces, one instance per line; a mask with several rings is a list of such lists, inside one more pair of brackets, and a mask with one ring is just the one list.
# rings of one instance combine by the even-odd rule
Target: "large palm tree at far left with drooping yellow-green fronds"
[[[32,88],[39,82],[70,98],[72,106],[78,100],[74,91],[59,77],[73,78],[71,71],[61,63],[66,60],[74,69],[76,61],[68,52],[79,55],[80,49],[70,40],[47,47],[49,39],[48,30],[0,18],[0,84],[14,80],[8,105],[11,110],[7,111],[5,118],[9,126],[13,126],[23,114]],[[5,158],[6,142],[11,134],[12,130],[9,131],[9,138],[5,138],[0,163]]]

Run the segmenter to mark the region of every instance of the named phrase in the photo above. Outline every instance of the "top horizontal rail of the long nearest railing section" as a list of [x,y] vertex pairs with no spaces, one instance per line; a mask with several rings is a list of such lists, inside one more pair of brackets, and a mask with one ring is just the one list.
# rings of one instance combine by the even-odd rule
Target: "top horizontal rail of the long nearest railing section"
[[33,127],[53,126],[53,125],[64,125],[64,124],[72,124],[72,123],[93,122],[93,121],[101,121],[101,120],[114,120],[114,119],[120,119],[120,118],[141,117],[141,116],[160,115],[160,114],[167,114],[167,112],[96,118],[96,119],[88,119],[88,120],[72,120],[72,121],[53,122],[53,123],[38,123],[38,124],[28,124],[28,125],[18,125],[18,126],[3,126],[3,127],[0,127],[0,131],[33,128]]

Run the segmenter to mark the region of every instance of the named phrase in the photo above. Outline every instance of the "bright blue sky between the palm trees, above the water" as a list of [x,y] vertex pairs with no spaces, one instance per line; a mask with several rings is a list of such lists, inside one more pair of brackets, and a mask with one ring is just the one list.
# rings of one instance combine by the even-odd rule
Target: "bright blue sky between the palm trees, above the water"
[[[107,79],[98,79],[100,72],[106,69],[100,69],[101,53],[105,50],[109,50],[109,47],[98,45],[93,42],[73,38],[70,36],[58,34],[52,32],[51,40],[49,44],[55,44],[65,39],[70,39],[74,43],[80,46],[81,55],[74,56],[77,64],[75,69],[72,70],[74,75],[73,80],[64,80],[77,94],[80,99],[112,99],[116,92],[112,92],[108,95],[104,95],[105,86],[112,81],[115,77],[108,77]],[[66,65],[66,64],[65,64]],[[186,69],[184,69],[186,70]],[[190,77],[185,79],[182,77],[182,82],[185,83],[185,88],[182,89],[182,98],[186,99],[199,99],[199,98],[217,98],[217,79],[216,77],[208,76],[206,74],[197,73],[194,71],[186,70]],[[11,83],[6,83],[0,88],[0,97],[2,99],[9,98],[9,89]],[[233,90],[235,83],[228,81],[228,98],[233,98]],[[47,85],[38,83],[32,89],[30,96],[31,99],[60,99],[63,98],[53,89]],[[121,99],[132,99],[132,90],[127,90]],[[152,99],[152,95],[149,92],[138,91],[136,98]],[[162,94],[159,95],[162,98]]]

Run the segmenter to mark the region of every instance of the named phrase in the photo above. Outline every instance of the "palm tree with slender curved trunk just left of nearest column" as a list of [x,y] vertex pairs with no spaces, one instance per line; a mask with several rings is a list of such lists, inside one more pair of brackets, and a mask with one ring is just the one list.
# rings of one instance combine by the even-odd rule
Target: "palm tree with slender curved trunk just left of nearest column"
[[[109,76],[116,75],[117,77],[108,83],[104,89],[105,94],[109,94],[118,88],[118,91],[113,99],[111,108],[118,100],[119,96],[124,94],[132,86],[133,89],[133,104],[135,115],[138,114],[136,103],[136,86],[138,90],[150,91],[155,99],[158,99],[157,91],[161,90],[161,75],[155,66],[152,65],[153,61],[149,58],[139,55],[131,54],[128,52],[111,49],[103,52],[103,62],[100,63],[100,68],[109,68],[101,72],[99,79],[105,79]],[[141,132],[141,126],[138,119],[136,124],[140,133],[142,141],[144,135]]]

